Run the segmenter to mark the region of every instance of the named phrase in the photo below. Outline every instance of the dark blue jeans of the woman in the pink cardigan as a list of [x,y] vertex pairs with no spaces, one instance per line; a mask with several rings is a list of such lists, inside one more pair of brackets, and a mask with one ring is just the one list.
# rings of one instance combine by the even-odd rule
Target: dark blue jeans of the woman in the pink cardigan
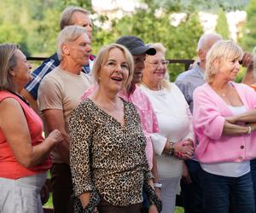
[[201,172],[205,213],[254,213],[251,172],[240,177],[212,175]]

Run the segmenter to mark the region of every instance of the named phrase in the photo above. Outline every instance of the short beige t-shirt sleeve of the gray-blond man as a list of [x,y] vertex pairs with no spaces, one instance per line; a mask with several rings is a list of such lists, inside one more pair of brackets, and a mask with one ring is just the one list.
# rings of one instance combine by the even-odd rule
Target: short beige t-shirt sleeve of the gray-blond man
[[63,89],[55,78],[46,77],[38,89],[38,105],[40,111],[46,109],[63,109]]

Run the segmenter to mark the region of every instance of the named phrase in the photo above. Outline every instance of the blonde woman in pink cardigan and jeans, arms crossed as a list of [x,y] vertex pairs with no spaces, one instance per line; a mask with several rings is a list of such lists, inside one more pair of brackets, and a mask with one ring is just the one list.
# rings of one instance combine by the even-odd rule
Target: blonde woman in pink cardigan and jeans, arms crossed
[[242,50],[231,41],[207,54],[206,81],[194,93],[195,157],[203,169],[205,213],[254,212],[250,159],[256,157],[256,95],[234,83]]

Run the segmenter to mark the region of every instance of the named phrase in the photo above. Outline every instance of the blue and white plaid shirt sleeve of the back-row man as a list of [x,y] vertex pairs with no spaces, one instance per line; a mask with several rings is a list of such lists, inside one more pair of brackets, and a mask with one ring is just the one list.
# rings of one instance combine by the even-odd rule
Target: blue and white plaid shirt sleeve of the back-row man
[[32,95],[35,100],[38,99],[38,88],[42,79],[46,74],[51,72],[55,66],[55,60],[47,60],[32,72],[32,81],[26,84],[25,89]]

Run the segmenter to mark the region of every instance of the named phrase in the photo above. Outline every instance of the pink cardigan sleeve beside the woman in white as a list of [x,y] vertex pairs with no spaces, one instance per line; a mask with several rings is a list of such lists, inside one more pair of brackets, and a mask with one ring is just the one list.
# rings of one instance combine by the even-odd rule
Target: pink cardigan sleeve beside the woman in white
[[197,88],[194,92],[194,128],[196,132],[218,140],[224,129],[225,118],[219,112],[221,106],[217,106],[214,97],[207,93],[205,87]]

